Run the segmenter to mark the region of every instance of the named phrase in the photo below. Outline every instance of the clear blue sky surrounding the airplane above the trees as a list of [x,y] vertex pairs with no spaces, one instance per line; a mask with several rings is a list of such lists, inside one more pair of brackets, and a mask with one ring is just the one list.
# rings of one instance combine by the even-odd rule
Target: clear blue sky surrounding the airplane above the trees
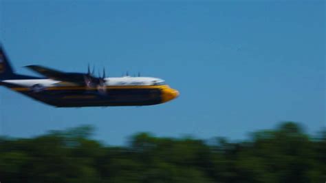
[[281,121],[325,127],[325,1],[0,1],[0,40],[17,72],[40,64],[109,76],[142,72],[180,98],[151,107],[57,109],[1,88],[1,133],[94,125],[95,138],[243,140]]

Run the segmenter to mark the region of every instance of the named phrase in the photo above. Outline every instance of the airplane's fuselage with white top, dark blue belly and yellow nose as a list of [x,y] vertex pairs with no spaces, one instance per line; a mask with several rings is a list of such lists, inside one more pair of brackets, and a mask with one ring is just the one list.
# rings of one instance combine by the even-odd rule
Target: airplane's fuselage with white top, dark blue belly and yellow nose
[[164,80],[149,77],[105,78],[105,85],[94,87],[52,79],[3,80],[2,83],[56,107],[157,105],[179,95]]

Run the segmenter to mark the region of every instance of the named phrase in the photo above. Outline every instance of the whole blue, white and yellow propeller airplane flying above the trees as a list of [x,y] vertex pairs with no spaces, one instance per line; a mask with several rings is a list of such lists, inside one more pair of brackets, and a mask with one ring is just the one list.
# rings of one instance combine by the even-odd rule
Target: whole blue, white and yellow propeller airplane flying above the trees
[[61,72],[40,65],[28,69],[45,78],[16,74],[0,45],[0,85],[54,107],[143,106],[166,103],[179,96],[160,78],[96,77],[87,73]]

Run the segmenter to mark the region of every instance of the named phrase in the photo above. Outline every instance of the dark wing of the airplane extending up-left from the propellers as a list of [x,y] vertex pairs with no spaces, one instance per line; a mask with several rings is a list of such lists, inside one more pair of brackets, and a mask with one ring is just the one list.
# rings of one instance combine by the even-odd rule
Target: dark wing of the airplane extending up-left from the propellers
[[56,69],[43,67],[41,65],[28,65],[26,67],[53,80],[61,80],[78,84],[85,83],[86,74],[61,72]]

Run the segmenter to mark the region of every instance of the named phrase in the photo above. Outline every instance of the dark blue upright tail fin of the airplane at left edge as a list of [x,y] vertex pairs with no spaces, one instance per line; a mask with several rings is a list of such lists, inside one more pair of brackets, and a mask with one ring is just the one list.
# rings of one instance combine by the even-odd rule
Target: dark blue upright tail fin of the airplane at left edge
[[0,45],[0,80],[6,80],[14,78],[14,70],[10,65],[8,57]]

